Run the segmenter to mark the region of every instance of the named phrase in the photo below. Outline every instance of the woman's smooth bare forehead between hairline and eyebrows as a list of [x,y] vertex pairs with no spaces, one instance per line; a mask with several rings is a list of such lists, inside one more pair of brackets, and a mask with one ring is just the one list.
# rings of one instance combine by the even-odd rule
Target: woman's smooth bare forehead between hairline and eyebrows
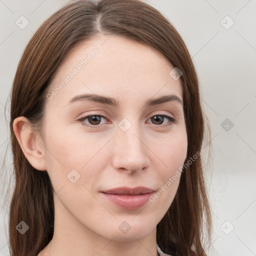
[[116,35],[77,44],[58,67],[48,92],[51,104],[65,104],[79,93],[116,95],[125,100],[174,93],[182,99],[172,64],[155,49]]

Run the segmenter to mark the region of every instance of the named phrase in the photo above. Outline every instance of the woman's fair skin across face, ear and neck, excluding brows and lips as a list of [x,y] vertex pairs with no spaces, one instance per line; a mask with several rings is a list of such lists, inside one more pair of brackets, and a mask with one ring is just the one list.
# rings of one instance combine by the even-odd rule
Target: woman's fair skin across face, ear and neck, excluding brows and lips
[[[181,82],[169,75],[173,66],[161,53],[127,38],[108,37],[99,35],[80,43],[59,66],[49,93],[84,56],[99,50],[56,95],[46,99],[40,133],[33,136],[24,116],[13,122],[26,158],[38,171],[47,171],[54,188],[54,234],[39,256],[157,255],[156,225],[174,198],[179,177],[154,202],[138,209],[120,208],[100,191],[120,186],[157,191],[184,163],[187,135],[182,105],[173,100],[145,106],[147,99],[167,94],[182,100]],[[69,103],[82,93],[113,97],[120,105]],[[96,128],[90,118],[83,123],[91,128],[77,121],[92,113],[106,119],[101,117]],[[159,114],[176,121],[151,118]],[[131,124],[126,131],[118,126],[123,118]],[[74,183],[67,178],[72,169],[80,175]],[[126,233],[118,228],[123,221],[130,226]]]

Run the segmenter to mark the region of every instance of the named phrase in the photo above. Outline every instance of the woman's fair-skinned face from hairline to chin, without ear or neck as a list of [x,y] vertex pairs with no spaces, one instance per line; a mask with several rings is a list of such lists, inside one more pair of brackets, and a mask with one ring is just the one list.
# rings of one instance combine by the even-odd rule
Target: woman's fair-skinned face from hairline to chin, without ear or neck
[[42,131],[62,231],[118,241],[155,231],[187,150],[173,68],[150,47],[116,35],[77,45],[60,65],[48,87]]

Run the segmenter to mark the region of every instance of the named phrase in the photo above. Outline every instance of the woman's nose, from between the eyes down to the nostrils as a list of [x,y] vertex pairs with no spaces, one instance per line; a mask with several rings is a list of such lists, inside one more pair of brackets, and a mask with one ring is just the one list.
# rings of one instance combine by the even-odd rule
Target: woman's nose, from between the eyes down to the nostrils
[[134,124],[126,131],[117,127],[113,141],[113,167],[130,173],[145,171],[150,164],[150,150],[144,140],[141,130]]

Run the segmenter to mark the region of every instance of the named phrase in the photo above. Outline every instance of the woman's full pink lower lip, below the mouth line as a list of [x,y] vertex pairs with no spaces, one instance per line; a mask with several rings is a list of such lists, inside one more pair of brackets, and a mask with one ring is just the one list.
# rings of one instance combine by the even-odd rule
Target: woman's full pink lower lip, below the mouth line
[[149,200],[150,195],[153,194],[153,192],[137,195],[101,193],[109,201],[124,209],[137,209],[141,207]]

